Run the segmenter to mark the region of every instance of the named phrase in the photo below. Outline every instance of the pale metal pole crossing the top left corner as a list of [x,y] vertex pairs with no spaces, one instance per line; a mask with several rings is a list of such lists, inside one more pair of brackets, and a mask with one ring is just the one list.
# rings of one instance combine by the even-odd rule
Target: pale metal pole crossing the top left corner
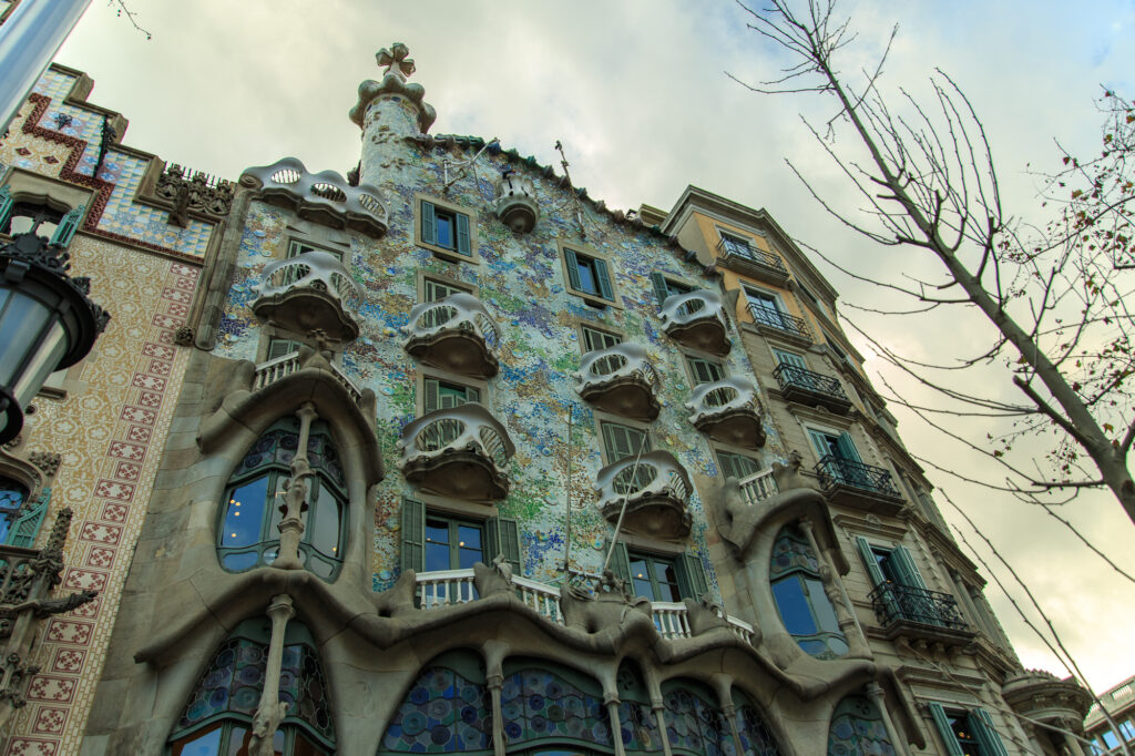
[[0,26],[0,134],[90,5],[91,0],[23,0]]

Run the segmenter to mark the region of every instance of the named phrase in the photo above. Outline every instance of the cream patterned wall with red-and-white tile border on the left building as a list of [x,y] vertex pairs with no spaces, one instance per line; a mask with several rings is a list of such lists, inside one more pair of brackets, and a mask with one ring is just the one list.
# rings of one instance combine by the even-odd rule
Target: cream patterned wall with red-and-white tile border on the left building
[[146,252],[82,235],[70,249],[74,272],[92,278],[92,297],[114,317],[68,373],[79,387],[64,401],[37,400],[24,435],[62,454],[48,515],[75,512],[60,589],[100,594],[43,625],[33,660],[41,671],[16,714],[12,756],[78,751],[188,355],[174,330],[197,286],[197,268]]

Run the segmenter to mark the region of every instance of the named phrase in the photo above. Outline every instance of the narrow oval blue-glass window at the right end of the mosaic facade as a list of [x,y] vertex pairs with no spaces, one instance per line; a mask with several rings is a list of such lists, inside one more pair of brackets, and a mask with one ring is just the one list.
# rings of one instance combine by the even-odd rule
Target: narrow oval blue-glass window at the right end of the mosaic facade
[[848,653],[835,610],[819,580],[819,560],[798,527],[788,526],[777,534],[768,579],[784,629],[800,648],[824,660]]

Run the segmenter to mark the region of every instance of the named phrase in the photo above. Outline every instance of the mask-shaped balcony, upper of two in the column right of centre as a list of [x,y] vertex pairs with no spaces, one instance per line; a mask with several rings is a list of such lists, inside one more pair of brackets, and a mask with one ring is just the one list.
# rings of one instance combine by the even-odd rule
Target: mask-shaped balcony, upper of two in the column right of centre
[[638,344],[616,344],[583,355],[575,390],[605,412],[649,422],[658,417],[658,372]]

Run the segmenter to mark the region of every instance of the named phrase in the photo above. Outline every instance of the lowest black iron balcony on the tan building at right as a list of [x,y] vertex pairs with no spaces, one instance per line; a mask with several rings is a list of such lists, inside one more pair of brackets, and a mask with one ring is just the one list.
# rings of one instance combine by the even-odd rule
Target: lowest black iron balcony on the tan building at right
[[868,598],[889,640],[901,637],[959,647],[974,638],[950,594],[885,582]]

